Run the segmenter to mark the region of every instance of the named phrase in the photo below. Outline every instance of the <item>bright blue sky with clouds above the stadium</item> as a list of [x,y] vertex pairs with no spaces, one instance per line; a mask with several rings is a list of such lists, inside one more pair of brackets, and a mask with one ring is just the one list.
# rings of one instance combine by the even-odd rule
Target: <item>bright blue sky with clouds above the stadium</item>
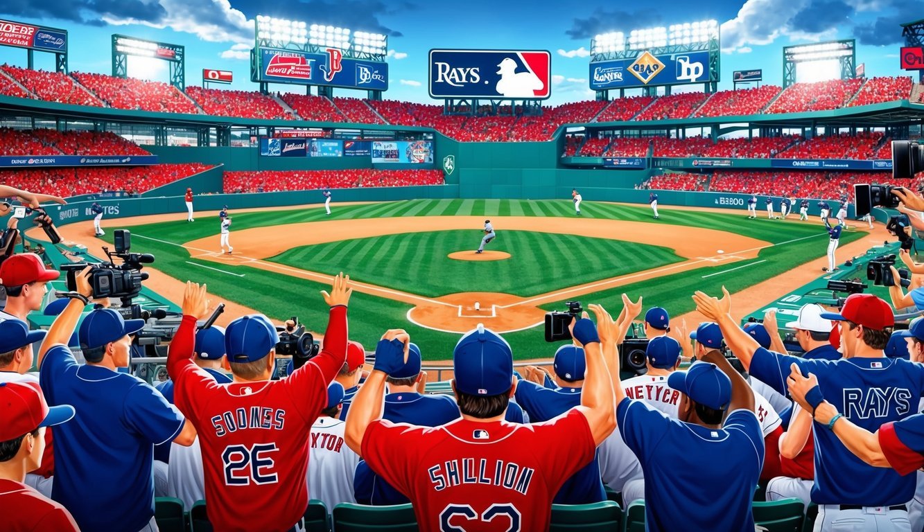
[[[782,84],[783,46],[857,39],[857,64],[867,76],[895,76],[901,22],[924,18],[918,0],[662,0],[650,7],[585,0],[579,3],[466,0],[0,0],[0,16],[68,30],[69,66],[112,71],[110,35],[186,46],[188,85],[201,84],[202,68],[232,70],[233,88],[256,90],[249,81],[253,18],[258,14],[342,26],[389,35],[386,99],[440,103],[427,94],[431,48],[521,48],[553,53],[550,104],[588,100],[587,50],[602,31],[632,30],[715,18],[722,25],[722,81],[733,70],[762,68],[764,83]],[[0,62],[25,66],[25,50],[0,47]],[[54,67],[51,54],[36,54],[36,67]],[[819,68],[814,68],[817,74]],[[163,62],[129,58],[129,74],[166,80]],[[808,71],[800,71],[800,77]],[[699,87],[699,86],[698,86]],[[271,86],[287,91],[286,86]],[[303,92],[293,86],[289,91]],[[364,92],[337,90],[336,95]]]

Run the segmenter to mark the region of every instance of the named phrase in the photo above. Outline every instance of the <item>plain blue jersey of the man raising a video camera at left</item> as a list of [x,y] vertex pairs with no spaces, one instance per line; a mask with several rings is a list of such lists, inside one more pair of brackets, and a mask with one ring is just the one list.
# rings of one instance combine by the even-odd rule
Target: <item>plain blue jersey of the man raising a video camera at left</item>
[[55,485],[84,532],[140,530],[154,514],[153,444],[173,441],[183,416],[139,378],[79,365],[55,345],[40,369],[49,405],[77,414],[55,427]]

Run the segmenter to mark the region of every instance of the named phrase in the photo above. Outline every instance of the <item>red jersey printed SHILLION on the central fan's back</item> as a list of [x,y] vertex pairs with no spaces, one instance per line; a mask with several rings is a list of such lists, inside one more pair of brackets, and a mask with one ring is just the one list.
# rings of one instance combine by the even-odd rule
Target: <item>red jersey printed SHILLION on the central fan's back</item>
[[547,530],[555,493],[595,451],[575,409],[534,425],[379,420],[362,439],[363,459],[410,499],[421,532]]

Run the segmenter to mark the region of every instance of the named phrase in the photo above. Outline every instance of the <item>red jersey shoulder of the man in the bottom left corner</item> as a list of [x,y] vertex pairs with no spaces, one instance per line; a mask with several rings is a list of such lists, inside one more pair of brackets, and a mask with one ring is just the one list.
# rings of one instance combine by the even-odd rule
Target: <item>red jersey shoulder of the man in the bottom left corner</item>
[[3,529],[7,532],[80,530],[67,508],[45,499],[25,484],[6,478],[0,478],[0,514],[4,516]]

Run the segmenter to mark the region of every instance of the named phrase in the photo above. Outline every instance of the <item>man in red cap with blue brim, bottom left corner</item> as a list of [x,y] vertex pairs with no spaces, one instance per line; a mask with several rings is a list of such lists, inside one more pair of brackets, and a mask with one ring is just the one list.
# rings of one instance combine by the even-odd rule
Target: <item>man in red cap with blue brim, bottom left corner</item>
[[74,407],[49,408],[34,382],[0,382],[0,514],[3,529],[78,531],[67,509],[26,486],[26,473],[42,466],[45,427],[74,417]]

